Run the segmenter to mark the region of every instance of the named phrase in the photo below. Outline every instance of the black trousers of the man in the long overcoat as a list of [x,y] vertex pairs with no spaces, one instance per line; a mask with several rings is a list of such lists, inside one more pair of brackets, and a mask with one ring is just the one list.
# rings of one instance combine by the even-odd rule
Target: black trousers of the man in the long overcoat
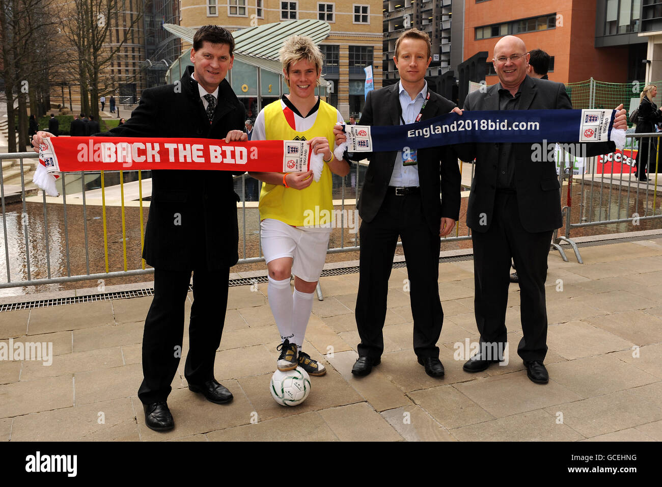
[[[193,270],[193,304],[189,321],[189,352],[184,376],[192,384],[214,378],[214,358],[220,345],[228,303],[230,268]],[[165,401],[177,373],[184,332],[184,304],[191,271],[154,269],[154,299],[142,337],[143,380],[138,398],[143,404]]]

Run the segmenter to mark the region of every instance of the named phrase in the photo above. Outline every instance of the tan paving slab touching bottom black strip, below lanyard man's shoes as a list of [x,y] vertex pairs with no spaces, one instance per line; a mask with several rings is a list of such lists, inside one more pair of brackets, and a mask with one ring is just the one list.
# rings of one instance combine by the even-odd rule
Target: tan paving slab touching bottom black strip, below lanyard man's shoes
[[324,409],[318,414],[340,441],[401,441],[402,436],[369,404]]

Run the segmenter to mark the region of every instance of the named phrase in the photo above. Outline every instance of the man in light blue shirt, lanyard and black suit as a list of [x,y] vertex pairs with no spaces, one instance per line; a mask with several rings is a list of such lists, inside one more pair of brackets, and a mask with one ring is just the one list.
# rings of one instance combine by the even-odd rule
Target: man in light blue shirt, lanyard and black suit
[[[430,91],[425,81],[432,60],[428,34],[417,29],[404,32],[394,60],[400,82],[368,93],[361,125],[404,125],[416,121],[419,113],[426,120],[453,109],[455,105]],[[336,134],[342,142],[344,136]],[[352,374],[367,375],[381,362],[389,276],[401,237],[414,317],[414,352],[428,375],[442,377],[444,366],[436,343],[444,312],[437,280],[440,237],[448,235],[459,218],[457,158],[449,148],[403,148],[372,152],[369,158],[358,203],[363,221],[355,317],[361,343]]]

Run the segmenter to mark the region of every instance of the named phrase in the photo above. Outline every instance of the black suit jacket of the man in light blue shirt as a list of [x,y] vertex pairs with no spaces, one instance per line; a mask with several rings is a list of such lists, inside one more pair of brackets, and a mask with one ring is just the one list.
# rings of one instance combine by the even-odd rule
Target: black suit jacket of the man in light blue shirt
[[[444,115],[453,107],[452,101],[430,91],[421,120]],[[400,125],[400,111],[399,83],[370,91],[360,125]],[[359,215],[367,222],[377,215],[384,201],[397,154],[397,151],[371,152],[367,156],[370,164],[358,203]],[[461,178],[457,158],[447,146],[419,149],[416,156],[425,221],[430,231],[439,235],[442,217],[459,218]]]

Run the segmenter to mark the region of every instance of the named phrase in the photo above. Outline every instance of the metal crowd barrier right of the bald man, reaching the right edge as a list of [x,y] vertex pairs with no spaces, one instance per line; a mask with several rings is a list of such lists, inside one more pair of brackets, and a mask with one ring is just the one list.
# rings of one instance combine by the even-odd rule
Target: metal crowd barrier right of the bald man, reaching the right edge
[[[566,205],[562,209],[565,235],[555,235],[552,245],[561,252],[563,260],[567,257],[561,242],[569,243],[577,257],[577,262],[583,264],[579,248],[571,239],[572,229],[612,225],[616,223],[632,223],[639,225],[641,221],[662,219],[662,209],[657,211],[658,184],[662,185],[662,160],[659,154],[659,140],[662,133],[628,134],[626,148],[620,161],[618,172],[605,172],[604,167],[598,172],[597,157],[587,158],[583,165],[583,174],[573,175],[571,168],[565,168],[559,174],[561,196],[566,191]],[[650,172],[646,182],[639,182],[634,170],[633,151],[645,147],[655,172]],[[610,161],[612,164],[613,162]],[[645,164],[645,163],[644,163]],[[602,166],[605,164],[603,163]],[[613,166],[612,166],[613,167]],[[579,181],[577,181],[577,176]],[[567,186],[563,186],[563,181]],[[579,186],[579,201],[573,198],[573,188]],[[614,194],[616,193],[616,194]],[[576,211],[573,212],[573,208]]]

